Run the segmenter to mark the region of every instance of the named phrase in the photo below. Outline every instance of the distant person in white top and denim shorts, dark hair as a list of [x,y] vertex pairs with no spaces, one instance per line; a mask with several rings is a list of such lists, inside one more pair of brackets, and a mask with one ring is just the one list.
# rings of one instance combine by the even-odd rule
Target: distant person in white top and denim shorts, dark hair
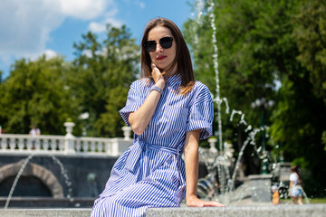
[[295,201],[298,201],[298,204],[302,205],[302,176],[298,171],[298,166],[291,166],[291,175],[290,175],[290,195],[291,195],[291,204],[295,204]]

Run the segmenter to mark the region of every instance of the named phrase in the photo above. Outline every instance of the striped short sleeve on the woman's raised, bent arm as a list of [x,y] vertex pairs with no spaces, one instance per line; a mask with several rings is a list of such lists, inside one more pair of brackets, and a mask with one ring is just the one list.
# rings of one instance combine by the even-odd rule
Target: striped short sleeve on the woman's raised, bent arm
[[139,80],[136,80],[131,84],[130,89],[128,91],[126,106],[120,109],[119,111],[121,118],[129,127],[130,127],[129,124],[130,112],[134,112],[137,109],[139,109],[139,107],[143,103],[142,94],[140,94],[140,92],[141,92],[140,82]]

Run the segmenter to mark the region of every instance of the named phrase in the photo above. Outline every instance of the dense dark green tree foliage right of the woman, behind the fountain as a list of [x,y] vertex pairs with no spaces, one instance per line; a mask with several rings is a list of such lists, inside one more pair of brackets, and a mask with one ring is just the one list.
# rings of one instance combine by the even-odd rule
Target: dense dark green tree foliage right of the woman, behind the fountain
[[[315,175],[326,172],[321,145],[326,129],[325,4],[294,0],[214,2],[221,97],[228,99],[231,110],[243,111],[253,127],[259,127],[264,117],[271,134],[267,149],[275,148],[272,144],[282,145],[285,160],[304,162],[302,166],[318,180],[312,184],[312,193],[314,187],[326,183],[321,175]],[[215,90],[208,6],[206,3],[200,19],[189,19],[184,30],[197,79]],[[273,100],[275,105],[252,108],[256,99]],[[239,149],[247,136],[245,126],[236,119],[231,123],[225,112],[222,115],[224,139]],[[262,137],[256,137],[255,142],[262,145]],[[252,150],[248,147],[247,151]],[[247,165],[252,158],[245,154]],[[247,168],[250,173],[255,171]]]

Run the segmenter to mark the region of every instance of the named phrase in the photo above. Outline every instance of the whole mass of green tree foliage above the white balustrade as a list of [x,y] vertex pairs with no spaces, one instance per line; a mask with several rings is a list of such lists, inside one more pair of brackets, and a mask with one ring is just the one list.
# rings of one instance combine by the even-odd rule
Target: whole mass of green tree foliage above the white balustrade
[[[76,123],[74,135],[118,137],[124,125],[119,115],[129,84],[138,75],[139,46],[125,26],[108,25],[104,39],[82,35],[74,44],[75,60],[19,60],[0,80],[0,123],[5,133],[28,133],[33,124],[42,134],[62,135],[63,123]],[[89,118],[82,119],[82,113]]]

